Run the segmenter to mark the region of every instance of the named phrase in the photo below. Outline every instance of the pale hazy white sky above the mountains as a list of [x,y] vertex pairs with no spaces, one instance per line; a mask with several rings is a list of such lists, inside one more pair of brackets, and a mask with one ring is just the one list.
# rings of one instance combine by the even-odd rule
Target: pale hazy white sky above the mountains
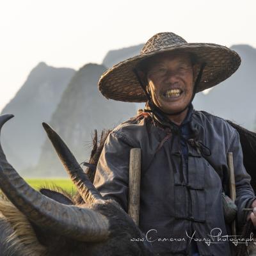
[[0,0],[0,111],[40,61],[78,69],[163,31],[256,47],[255,10],[255,0]]

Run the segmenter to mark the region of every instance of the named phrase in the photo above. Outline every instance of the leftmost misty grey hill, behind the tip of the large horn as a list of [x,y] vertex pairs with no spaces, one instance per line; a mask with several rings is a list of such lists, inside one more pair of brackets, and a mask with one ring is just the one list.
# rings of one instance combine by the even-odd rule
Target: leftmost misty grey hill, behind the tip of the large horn
[[1,114],[15,118],[3,127],[3,148],[17,168],[36,164],[44,133],[42,120],[49,121],[75,70],[49,67],[44,62],[31,70],[26,82]]

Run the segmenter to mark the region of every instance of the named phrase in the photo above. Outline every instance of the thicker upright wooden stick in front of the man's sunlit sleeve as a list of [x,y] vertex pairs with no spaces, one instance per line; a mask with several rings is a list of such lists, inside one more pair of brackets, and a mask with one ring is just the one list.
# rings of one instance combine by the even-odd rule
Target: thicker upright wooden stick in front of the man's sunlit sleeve
[[132,148],[129,165],[128,214],[139,225],[140,216],[141,149]]

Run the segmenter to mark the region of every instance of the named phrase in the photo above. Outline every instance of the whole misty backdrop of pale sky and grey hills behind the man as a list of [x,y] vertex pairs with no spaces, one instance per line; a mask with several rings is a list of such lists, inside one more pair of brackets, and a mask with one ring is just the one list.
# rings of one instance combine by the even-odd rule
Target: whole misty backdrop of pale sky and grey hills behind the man
[[42,122],[61,135],[79,163],[88,160],[94,129],[113,128],[143,107],[106,100],[97,89],[99,77],[162,31],[240,54],[237,72],[197,93],[193,104],[256,131],[256,4],[219,2],[1,2],[0,111],[15,115],[1,141],[10,163],[25,177],[66,176]]

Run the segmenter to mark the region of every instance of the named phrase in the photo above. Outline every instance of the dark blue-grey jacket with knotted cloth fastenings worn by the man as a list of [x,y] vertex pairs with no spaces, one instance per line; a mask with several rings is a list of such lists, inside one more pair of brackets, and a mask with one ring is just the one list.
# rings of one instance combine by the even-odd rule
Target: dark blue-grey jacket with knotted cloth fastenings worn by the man
[[[118,125],[106,140],[94,184],[104,198],[116,200],[127,212],[129,152],[141,148],[139,227],[153,252],[189,255],[189,237],[193,236],[200,255],[230,255],[230,245],[223,237],[228,230],[221,201],[228,172],[227,152],[234,157],[239,227],[246,221],[247,213],[242,209],[255,198],[250,175],[243,166],[239,134],[222,118],[193,108],[190,111],[194,144],[182,142],[182,136],[170,132],[151,115]],[[187,159],[182,143],[186,143]]]

